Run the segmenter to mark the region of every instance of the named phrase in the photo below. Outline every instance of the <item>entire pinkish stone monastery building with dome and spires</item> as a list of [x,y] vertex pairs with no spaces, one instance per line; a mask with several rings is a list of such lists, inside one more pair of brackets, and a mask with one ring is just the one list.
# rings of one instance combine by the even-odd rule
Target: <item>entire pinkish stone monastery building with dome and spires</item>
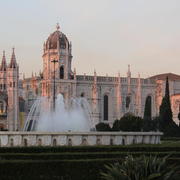
[[[164,96],[165,78],[169,77],[170,95],[174,121],[180,111],[180,76],[172,73],[150,78],[131,77],[130,66],[127,76],[115,77],[77,75],[72,71],[72,45],[66,35],[57,30],[50,34],[43,45],[43,71],[39,75],[19,80],[18,65],[13,50],[11,63],[7,66],[3,54],[0,70],[0,128],[21,130],[30,108],[39,96],[52,97],[61,93],[66,100],[85,97],[91,107],[95,124],[112,123],[126,113],[144,114],[145,101],[151,99],[152,117],[159,114]],[[119,68],[118,68],[119,69]],[[55,89],[54,89],[55,84]],[[18,88],[19,87],[19,88]],[[19,106],[18,106],[19,104]]]

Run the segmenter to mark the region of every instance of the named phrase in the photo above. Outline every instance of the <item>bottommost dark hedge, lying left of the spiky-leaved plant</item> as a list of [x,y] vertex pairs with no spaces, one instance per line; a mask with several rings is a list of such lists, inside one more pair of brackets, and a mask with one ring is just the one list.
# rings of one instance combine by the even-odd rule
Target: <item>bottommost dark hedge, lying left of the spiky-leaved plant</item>
[[[119,160],[121,161],[121,160]],[[69,161],[0,161],[1,180],[100,180],[104,165],[117,159]],[[180,159],[169,159],[170,164],[180,165]]]

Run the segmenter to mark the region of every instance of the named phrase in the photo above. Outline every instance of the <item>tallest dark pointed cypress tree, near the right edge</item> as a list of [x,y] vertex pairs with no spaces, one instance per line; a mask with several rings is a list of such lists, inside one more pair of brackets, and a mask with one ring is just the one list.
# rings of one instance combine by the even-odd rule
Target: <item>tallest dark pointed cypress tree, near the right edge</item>
[[163,123],[167,124],[173,121],[172,119],[172,110],[171,110],[171,102],[169,97],[169,81],[168,77],[166,78],[166,89],[165,96],[163,97],[162,104],[160,106],[160,119]]

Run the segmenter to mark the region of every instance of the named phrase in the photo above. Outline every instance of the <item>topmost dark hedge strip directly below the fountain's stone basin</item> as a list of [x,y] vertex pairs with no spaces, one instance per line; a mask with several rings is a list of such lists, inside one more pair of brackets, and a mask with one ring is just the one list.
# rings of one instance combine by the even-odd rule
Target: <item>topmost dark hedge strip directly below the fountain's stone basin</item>
[[134,145],[134,146],[76,146],[76,147],[1,147],[0,153],[60,153],[60,152],[167,152],[180,151],[180,146]]

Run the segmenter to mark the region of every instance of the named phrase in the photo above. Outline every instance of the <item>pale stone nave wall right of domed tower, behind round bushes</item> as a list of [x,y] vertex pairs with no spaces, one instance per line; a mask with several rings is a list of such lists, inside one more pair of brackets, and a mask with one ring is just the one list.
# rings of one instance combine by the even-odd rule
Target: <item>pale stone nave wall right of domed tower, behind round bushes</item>
[[[88,100],[90,107],[92,109],[92,117],[95,121],[95,124],[99,122],[109,123],[110,125],[116,119],[120,119],[125,113],[131,112],[134,115],[143,117],[145,101],[147,96],[152,98],[152,117],[158,115],[156,109],[156,84],[150,79],[140,79],[140,96],[137,104],[137,95],[138,95],[138,78],[131,78],[128,93],[128,82],[127,78],[120,78],[120,87],[117,89],[117,77],[101,77],[97,76],[96,84],[96,98],[93,97],[93,85],[94,85],[94,76],[77,76],[77,86],[76,86],[76,96],[80,97],[81,94]],[[62,85],[61,85],[62,86]],[[119,96],[117,96],[117,91],[119,91]],[[108,120],[104,120],[104,95],[108,96]],[[126,98],[130,96],[130,105],[129,108],[126,107]],[[117,100],[121,99],[120,104],[117,104]],[[94,102],[96,105],[94,107]],[[140,106],[140,109],[139,109]],[[139,109],[139,113],[137,112]],[[120,117],[118,117],[118,112],[120,111]]]

